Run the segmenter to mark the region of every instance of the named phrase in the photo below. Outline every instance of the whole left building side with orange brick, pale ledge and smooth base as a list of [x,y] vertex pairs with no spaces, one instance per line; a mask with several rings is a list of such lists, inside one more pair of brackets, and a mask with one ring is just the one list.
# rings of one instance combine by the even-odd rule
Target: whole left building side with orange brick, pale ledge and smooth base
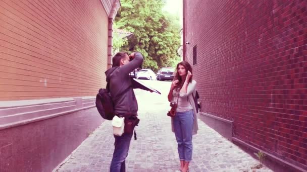
[[97,126],[119,0],[0,0],[0,171],[51,171]]

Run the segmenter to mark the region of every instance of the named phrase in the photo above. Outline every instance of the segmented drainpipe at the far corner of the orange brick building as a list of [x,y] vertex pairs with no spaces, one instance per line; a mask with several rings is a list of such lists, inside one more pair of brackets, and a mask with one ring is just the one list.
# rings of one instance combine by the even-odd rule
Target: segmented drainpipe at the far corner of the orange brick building
[[108,24],[108,65],[107,65],[107,69],[112,67],[113,22],[114,22],[116,14],[117,14],[117,11],[118,11],[118,9],[120,7],[121,7],[120,1],[119,0],[115,0],[113,5],[112,5],[111,13],[109,15],[109,24]]

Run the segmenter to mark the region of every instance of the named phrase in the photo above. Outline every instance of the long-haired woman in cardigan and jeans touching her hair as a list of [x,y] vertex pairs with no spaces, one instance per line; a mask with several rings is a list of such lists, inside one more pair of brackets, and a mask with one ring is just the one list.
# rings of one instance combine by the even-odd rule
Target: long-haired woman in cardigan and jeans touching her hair
[[192,134],[198,130],[193,99],[196,81],[192,80],[192,67],[188,62],[178,63],[176,70],[168,100],[177,103],[176,115],[172,117],[172,131],[178,143],[181,171],[186,172],[192,160]]

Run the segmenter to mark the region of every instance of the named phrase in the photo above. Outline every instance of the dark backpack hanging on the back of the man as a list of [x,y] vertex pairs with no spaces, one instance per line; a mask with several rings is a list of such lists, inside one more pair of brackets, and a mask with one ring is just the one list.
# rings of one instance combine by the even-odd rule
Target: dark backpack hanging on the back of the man
[[110,94],[110,84],[107,83],[106,89],[99,89],[96,95],[96,108],[101,117],[106,120],[112,120],[114,114],[114,104]]

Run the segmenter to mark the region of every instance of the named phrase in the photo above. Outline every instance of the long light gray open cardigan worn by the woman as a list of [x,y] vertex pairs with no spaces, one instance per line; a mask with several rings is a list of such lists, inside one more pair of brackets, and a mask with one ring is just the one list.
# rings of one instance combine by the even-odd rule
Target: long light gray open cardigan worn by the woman
[[[180,93],[179,97],[182,97],[182,98],[188,97],[188,100],[193,107],[193,111],[194,111],[193,113],[194,114],[193,134],[197,134],[197,130],[198,130],[197,113],[196,113],[196,108],[195,108],[195,103],[194,103],[192,93],[193,95],[196,94],[196,81],[195,80],[192,80],[192,82],[188,84],[186,93]],[[172,131],[174,132],[174,120],[173,118],[171,119],[172,119]]]

